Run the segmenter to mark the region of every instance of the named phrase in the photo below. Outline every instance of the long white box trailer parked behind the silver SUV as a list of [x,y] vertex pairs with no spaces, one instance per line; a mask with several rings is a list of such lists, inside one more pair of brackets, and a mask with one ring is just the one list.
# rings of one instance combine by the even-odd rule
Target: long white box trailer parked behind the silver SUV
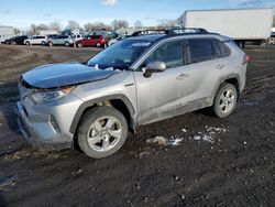
[[185,12],[183,22],[185,28],[202,28],[239,43],[262,43],[271,36],[273,15],[272,8],[190,10]]

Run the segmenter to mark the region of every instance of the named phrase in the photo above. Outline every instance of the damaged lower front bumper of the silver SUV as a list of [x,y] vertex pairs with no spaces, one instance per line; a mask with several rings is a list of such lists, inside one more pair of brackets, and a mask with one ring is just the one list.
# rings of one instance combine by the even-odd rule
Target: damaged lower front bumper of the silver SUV
[[73,140],[64,137],[51,122],[51,116],[36,113],[29,117],[21,101],[16,102],[18,124],[26,142],[35,148],[61,150],[73,148]]

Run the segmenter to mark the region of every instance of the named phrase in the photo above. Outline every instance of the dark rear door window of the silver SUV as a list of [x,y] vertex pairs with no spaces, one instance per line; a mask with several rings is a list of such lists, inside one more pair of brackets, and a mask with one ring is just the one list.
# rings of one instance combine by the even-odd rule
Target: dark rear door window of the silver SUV
[[190,62],[199,63],[215,57],[211,39],[188,40]]

